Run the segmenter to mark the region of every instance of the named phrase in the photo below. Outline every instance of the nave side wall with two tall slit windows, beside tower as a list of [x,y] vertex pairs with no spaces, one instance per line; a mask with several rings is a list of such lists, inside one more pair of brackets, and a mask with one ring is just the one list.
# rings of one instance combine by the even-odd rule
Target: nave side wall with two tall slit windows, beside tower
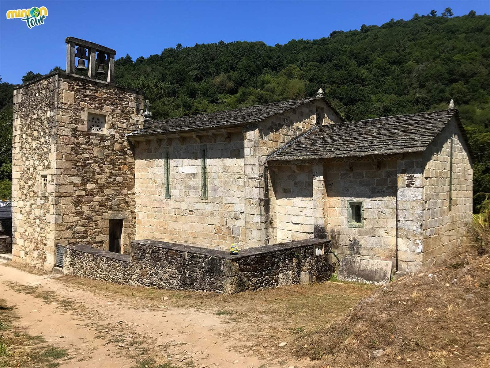
[[[242,133],[135,142],[137,239],[228,248],[245,244]],[[206,151],[207,197],[201,194]],[[166,195],[166,155],[170,197]]]

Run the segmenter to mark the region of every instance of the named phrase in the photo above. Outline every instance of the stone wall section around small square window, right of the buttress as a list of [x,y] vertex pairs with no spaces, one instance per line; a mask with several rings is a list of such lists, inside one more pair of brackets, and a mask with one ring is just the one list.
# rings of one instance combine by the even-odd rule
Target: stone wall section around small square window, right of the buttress
[[[341,256],[394,262],[396,160],[325,163],[323,177],[332,249]],[[362,227],[348,226],[349,202],[362,202]]]

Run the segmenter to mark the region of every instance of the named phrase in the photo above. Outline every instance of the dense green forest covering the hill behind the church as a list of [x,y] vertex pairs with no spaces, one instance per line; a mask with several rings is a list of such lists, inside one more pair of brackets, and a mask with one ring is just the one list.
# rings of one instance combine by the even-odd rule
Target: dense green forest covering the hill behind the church
[[[126,55],[115,79],[142,90],[157,119],[297,99],[319,87],[346,120],[444,109],[452,98],[475,157],[476,208],[490,193],[489,39],[489,15],[454,17],[446,8],[285,45],[220,41]],[[23,82],[37,76],[29,71]],[[0,83],[2,127],[11,124],[13,87]],[[0,161],[0,196],[9,160]]]

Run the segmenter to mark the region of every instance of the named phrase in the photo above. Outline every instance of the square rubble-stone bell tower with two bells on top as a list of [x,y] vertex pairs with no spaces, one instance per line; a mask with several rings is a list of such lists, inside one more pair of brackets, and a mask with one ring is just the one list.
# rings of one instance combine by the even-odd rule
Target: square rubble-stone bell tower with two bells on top
[[116,51],[65,41],[66,72],[14,91],[12,260],[47,270],[62,264],[64,246],[129,252],[136,216],[126,134],[144,121],[143,94],[114,83]]

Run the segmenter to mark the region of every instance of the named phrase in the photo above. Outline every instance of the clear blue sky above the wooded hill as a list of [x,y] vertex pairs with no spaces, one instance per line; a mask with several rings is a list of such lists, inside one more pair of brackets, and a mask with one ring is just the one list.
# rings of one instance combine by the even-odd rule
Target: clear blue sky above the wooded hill
[[[6,19],[10,9],[46,6],[44,25],[29,29]],[[490,13],[489,0],[322,0],[322,1],[5,1],[0,0],[0,76],[20,83],[29,70],[48,73],[65,68],[66,36],[110,47],[116,58],[160,53],[181,43],[264,41],[327,37],[333,30],[381,25],[414,13],[438,14],[449,6],[455,15]]]

